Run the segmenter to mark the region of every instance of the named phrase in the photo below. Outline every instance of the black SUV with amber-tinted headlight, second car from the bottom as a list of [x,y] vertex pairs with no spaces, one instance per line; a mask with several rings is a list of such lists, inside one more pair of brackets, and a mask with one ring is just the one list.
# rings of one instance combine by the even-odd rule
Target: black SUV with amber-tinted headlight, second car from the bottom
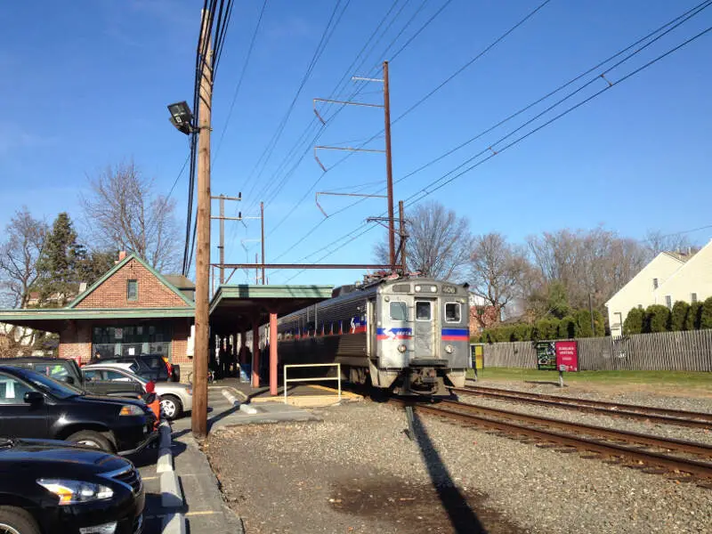
[[143,401],[93,397],[35,371],[0,366],[0,436],[68,440],[129,454],[155,440]]

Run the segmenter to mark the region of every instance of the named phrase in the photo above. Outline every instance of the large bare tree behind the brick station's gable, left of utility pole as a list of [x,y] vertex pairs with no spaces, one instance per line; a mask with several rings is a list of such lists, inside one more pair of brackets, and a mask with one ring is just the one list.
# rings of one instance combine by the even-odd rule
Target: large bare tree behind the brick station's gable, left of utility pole
[[177,268],[174,201],[154,194],[153,182],[134,162],[109,166],[89,184],[91,195],[82,204],[95,241],[133,251],[158,271]]

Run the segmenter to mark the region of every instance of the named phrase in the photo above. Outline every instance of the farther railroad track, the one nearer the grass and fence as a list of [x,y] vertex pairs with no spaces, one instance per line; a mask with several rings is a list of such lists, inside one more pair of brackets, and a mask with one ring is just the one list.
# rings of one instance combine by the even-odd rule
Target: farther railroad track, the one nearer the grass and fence
[[489,397],[500,401],[526,402],[540,406],[549,406],[559,409],[575,409],[613,417],[627,417],[660,423],[663,425],[689,426],[692,428],[712,427],[712,414],[691,412],[681,409],[654,408],[651,406],[637,406],[621,404],[618,402],[590,401],[588,399],[574,399],[544,393],[518,392],[514,390],[499,390],[489,387],[451,387],[451,392],[459,395],[477,395]]

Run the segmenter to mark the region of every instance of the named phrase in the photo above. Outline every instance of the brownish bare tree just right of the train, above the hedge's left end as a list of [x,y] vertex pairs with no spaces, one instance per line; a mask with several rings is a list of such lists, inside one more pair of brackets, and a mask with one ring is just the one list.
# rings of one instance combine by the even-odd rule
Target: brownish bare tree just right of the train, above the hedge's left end
[[495,309],[497,317],[507,303],[522,295],[522,275],[529,263],[522,250],[507,243],[498,232],[473,239],[470,255],[470,284],[475,295]]

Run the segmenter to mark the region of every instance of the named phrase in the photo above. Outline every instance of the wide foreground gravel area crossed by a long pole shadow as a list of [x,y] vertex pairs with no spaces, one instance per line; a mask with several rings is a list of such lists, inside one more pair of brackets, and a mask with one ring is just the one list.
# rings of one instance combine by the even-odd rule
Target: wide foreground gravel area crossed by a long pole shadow
[[253,533],[712,532],[712,492],[370,401],[253,425],[206,452]]

